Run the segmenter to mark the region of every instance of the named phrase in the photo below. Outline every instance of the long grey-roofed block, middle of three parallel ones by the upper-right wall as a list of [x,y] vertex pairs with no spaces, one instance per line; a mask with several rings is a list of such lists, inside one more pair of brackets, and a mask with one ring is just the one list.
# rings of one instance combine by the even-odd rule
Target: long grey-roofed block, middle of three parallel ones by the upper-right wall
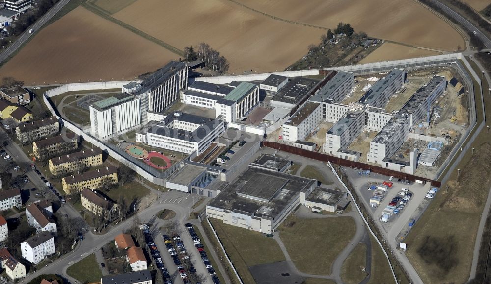
[[404,84],[406,71],[394,68],[385,78],[379,79],[359,100],[359,103],[371,107],[383,108],[389,98]]

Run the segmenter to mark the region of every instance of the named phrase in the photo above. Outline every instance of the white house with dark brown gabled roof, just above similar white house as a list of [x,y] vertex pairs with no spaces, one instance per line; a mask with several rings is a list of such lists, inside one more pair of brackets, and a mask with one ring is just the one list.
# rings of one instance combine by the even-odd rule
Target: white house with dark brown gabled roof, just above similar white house
[[52,216],[53,205],[48,200],[26,205],[27,223],[36,229],[36,233],[43,231],[56,233],[56,223]]

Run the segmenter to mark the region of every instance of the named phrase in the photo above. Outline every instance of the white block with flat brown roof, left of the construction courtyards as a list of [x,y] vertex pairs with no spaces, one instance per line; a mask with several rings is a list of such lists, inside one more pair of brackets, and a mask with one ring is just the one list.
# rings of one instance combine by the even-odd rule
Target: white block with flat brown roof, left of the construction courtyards
[[290,142],[305,140],[321,121],[322,104],[308,101],[283,124],[282,139]]

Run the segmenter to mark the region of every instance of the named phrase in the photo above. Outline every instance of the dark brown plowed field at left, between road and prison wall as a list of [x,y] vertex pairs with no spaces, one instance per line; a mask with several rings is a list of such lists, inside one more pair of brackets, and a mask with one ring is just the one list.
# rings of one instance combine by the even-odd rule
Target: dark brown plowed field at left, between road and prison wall
[[179,56],[78,7],[44,28],[0,69],[29,84],[133,79]]

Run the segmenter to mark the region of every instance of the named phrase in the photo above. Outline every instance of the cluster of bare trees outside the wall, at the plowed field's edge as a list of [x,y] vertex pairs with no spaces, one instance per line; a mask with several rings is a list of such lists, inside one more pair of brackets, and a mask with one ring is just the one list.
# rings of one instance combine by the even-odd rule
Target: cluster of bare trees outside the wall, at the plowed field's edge
[[184,57],[187,61],[203,60],[205,67],[217,73],[228,71],[230,64],[227,59],[220,55],[220,52],[210,47],[206,43],[200,43],[196,50],[194,47],[184,47]]

